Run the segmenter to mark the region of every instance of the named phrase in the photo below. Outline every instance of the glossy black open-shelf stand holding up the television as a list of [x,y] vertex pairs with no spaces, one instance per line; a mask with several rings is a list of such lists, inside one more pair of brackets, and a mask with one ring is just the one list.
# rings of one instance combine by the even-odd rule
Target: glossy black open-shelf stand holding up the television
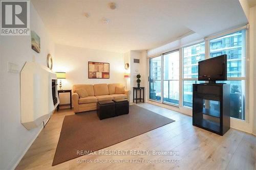
[[229,84],[193,84],[193,125],[224,135],[230,129],[229,95]]

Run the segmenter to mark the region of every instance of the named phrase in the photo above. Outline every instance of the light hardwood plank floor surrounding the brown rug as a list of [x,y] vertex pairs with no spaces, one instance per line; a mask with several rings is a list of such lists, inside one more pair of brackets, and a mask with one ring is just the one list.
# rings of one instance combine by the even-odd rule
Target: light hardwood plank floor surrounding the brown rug
[[[179,156],[84,155],[52,166],[63,118],[72,110],[55,112],[16,169],[256,169],[256,137],[230,129],[224,136],[192,126],[192,117],[148,103],[140,107],[176,122],[103,150],[178,151]],[[85,113],[86,114],[86,113]],[[77,160],[168,160],[179,163],[77,163]]]

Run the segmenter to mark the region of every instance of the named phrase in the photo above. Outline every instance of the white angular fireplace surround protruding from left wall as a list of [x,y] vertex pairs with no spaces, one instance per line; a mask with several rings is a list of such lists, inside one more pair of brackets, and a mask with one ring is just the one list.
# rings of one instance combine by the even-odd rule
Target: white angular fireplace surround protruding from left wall
[[58,104],[56,74],[46,66],[26,62],[20,71],[20,118],[24,127],[30,130],[41,126]]

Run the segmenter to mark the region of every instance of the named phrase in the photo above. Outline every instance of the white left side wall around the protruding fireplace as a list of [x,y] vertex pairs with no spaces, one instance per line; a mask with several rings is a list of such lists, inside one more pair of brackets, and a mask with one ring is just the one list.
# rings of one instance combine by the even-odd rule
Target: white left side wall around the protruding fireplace
[[30,36],[0,37],[1,113],[0,113],[0,169],[14,168],[23,157],[42,127],[28,131],[20,123],[19,74],[8,72],[8,62],[18,65],[19,71],[26,61],[46,65],[47,54],[54,58],[54,43],[44,23],[30,3],[30,29],[41,38],[41,53],[31,49]]

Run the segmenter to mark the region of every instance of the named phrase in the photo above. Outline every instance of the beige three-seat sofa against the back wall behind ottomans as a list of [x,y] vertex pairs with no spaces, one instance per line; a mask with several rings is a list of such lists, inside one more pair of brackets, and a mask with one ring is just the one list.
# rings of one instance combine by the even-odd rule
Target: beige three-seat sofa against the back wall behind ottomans
[[[103,100],[113,100],[113,99],[127,99],[130,101],[130,90],[124,90],[124,94],[116,94],[116,86],[120,84],[78,84],[73,85],[73,95],[72,102],[74,105],[74,112],[84,112],[90,110],[96,110],[97,102]],[[79,98],[76,93],[77,89],[84,88],[88,97]]]

